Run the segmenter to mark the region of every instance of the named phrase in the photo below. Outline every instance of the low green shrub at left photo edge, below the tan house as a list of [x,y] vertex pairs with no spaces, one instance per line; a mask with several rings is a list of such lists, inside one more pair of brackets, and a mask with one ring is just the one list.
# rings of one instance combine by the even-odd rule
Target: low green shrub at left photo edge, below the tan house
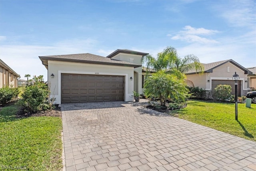
[[11,101],[20,93],[18,88],[13,88],[12,86],[5,86],[0,88],[0,104],[6,104]]

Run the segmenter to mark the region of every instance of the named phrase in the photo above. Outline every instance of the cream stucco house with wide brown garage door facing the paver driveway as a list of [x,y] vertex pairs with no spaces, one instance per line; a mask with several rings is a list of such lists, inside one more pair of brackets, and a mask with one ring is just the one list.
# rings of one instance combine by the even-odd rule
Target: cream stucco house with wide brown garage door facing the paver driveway
[[107,57],[87,53],[39,58],[48,70],[51,96],[60,104],[133,101],[133,91],[142,93],[145,74],[142,74],[141,58],[145,55],[147,53],[116,50]]

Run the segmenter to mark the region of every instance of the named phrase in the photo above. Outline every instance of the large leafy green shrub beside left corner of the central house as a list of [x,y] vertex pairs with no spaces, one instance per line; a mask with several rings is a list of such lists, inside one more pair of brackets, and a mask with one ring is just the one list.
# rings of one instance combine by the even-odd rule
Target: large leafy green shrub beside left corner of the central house
[[33,80],[34,84],[27,85],[22,94],[22,105],[25,111],[36,112],[51,109],[47,83],[40,76],[34,76]]

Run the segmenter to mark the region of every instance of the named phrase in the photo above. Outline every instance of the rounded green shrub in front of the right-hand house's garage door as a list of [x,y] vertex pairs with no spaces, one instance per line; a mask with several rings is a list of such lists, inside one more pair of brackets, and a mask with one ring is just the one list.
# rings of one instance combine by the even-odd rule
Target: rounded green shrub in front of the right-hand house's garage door
[[214,89],[214,99],[218,99],[218,100],[226,100],[228,98],[230,98],[231,96],[231,86],[230,85],[217,85],[217,87]]

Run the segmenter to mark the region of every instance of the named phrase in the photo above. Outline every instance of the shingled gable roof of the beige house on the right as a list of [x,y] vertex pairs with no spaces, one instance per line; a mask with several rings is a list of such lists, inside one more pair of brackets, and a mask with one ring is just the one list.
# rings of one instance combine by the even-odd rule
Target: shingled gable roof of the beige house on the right
[[[212,63],[209,63],[209,64],[203,64],[204,66],[204,72],[205,73],[210,73],[212,72],[212,70],[214,68],[217,68],[223,64],[226,64],[230,62],[231,64],[233,64],[234,66],[236,66],[237,68],[239,68],[240,70],[243,70],[244,71],[244,74],[252,74],[252,72],[246,68],[244,68],[243,66],[241,66],[240,64],[238,64],[237,62],[235,62],[234,60],[224,60],[224,61],[218,61],[218,62],[212,62]],[[196,72],[196,70],[192,70],[190,72],[187,72],[186,74],[196,74],[198,72]]]

